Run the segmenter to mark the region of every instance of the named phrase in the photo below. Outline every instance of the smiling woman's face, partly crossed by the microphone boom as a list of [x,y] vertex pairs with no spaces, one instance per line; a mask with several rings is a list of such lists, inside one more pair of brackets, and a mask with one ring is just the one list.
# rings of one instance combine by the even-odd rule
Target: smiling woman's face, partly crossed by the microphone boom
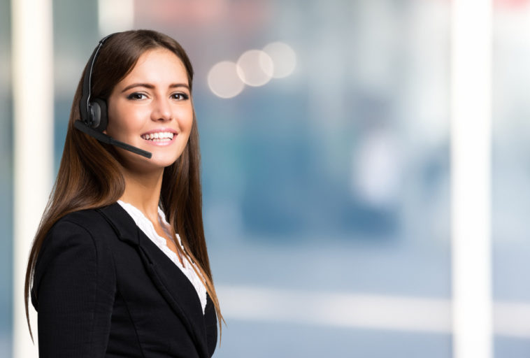
[[127,169],[164,168],[182,154],[193,106],[182,61],[165,48],[148,50],[108,98],[106,134],[152,152],[147,159],[117,148]]

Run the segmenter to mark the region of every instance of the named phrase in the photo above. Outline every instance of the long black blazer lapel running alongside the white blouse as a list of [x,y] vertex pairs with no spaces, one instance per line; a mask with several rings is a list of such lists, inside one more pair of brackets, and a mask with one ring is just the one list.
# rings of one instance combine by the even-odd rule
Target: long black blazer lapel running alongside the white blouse
[[145,236],[119,203],[113,203],[98,211],[113,227],[121,241],[137,248],[150,279],[173,312],[182,320],[189,336],[195,342],[199,356],[209,357],[201,302],[192,282],[189,282],[180,268]]

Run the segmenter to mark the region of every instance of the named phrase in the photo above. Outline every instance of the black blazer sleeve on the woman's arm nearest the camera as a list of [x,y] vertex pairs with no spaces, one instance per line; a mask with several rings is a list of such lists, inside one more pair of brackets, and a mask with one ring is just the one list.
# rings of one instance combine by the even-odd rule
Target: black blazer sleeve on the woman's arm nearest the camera
[[104,357],[115,298],[112,254],[101,238],[59,220],[48,233],[35,269],[40,358]]

